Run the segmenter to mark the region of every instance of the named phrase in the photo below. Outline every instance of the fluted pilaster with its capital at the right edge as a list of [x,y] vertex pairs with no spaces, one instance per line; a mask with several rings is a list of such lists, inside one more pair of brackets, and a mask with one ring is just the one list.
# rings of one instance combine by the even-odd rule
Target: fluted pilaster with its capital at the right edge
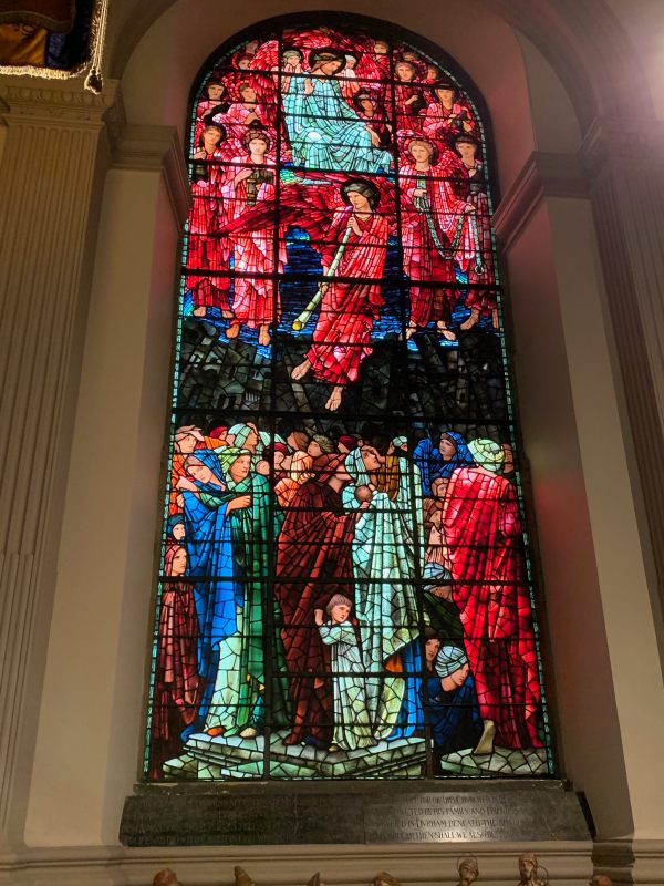
[[[598,120],[581,151],[664,602],[664,125]],[[660,614],[655,611],[655,618]]]

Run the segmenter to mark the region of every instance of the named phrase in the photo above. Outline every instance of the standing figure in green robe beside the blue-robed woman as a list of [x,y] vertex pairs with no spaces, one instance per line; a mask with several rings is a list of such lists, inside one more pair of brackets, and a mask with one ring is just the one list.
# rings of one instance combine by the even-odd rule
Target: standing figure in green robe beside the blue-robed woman
[[283,517],[273,508],[270,527],[270,487],[264,476],[251,470],[251,452],[228,446],[219,462],[229,491],[248,495],[250,502],[231,517],[234,580],[237,586],[238,629],[220,645],[219,670],[206,720],[210,735],[256,736],[264,724],[266,625],[270,618],[270,671],[272,725],[288,725],[286,662],[280,638],[280,612],[269,591],[269,557]]

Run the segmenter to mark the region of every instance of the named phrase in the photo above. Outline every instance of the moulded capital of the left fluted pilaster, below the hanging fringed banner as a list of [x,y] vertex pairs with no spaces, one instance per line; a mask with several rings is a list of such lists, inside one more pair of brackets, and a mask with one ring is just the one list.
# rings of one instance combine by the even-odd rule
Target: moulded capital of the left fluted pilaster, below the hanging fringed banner
[[118,81],[106,80],[96,95],[81,79],[0,78],[0,116],[8,126],[27,122],[100,128],[115,101]]

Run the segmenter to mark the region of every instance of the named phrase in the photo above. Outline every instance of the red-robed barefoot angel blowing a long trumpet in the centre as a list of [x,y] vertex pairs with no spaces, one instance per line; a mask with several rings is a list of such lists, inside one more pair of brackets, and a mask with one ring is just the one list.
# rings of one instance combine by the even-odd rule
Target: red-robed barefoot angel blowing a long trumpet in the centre
[[[334,214],[321,247],[323,276],[315,296],[293,323],[301,329],[320,305],[311,348],[292,371],[297,381],[310,372],[332,384],[325,409],[341,405],[344,388],[357,380],[371,353],[371,332],[384,299],[383,275],[390,226],[378,214],[381,192],[366,178],[349,178],[340,188],[346,204]],[[329,278],[329,279],[325,279]]]

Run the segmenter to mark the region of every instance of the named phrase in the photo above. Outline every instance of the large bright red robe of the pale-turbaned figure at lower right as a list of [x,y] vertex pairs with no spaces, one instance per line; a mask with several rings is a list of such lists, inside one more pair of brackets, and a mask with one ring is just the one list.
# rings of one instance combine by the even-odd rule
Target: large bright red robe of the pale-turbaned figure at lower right
[[540,748],[540,684],[513,486],[481,467],[457,468],[442,517],[479,708],[504,748]]

